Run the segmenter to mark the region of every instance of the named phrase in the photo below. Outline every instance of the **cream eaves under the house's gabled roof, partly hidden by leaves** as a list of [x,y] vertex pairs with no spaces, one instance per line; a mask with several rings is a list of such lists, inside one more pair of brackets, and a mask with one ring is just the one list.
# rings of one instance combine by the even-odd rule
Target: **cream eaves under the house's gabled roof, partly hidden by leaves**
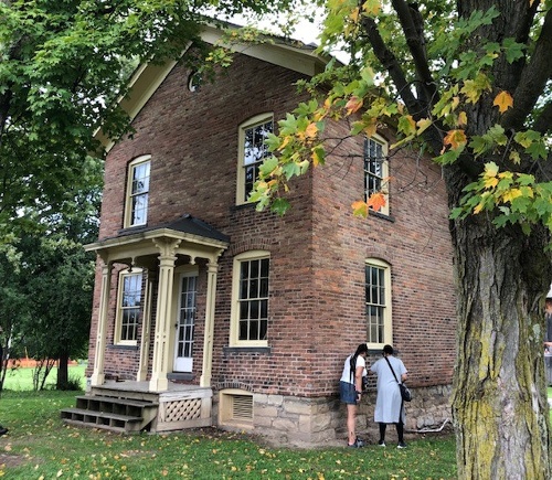
[[[200,36],[204,42],[215,44],[223,34],[221,29],[204,25]],[[328,63],[327,58],[315,54],[315,45],[307,45],[299,41],[287,41],[277,36],[270,36],[270,43],[262,44],[237,43],[232,46],[232,50],[308,76],[322,72]],[[191,44],[182,51],[182,55],[190,46]],[[177,60],[169,60],[163,64],[150,62],[136,70],[129,82],[130,92],[120,100],[120,106],[128,114],[130,120],[136,118],[177,63]],[[104,145],[106,151],[109,151],[115,143],[102,130],[96,132],[96,138]]]

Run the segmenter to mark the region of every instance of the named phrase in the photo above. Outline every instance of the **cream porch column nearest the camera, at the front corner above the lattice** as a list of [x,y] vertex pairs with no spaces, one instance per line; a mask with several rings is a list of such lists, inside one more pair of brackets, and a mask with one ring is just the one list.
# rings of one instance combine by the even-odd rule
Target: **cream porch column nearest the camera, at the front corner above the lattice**
[[149,390],[163,392],[169,387],[170,333],[172,316],[172,284],[174,279],[176,249],[180,241],[156,241],[159,255],[159,287],[157,295],[156,334],[153,341],[153,364]]

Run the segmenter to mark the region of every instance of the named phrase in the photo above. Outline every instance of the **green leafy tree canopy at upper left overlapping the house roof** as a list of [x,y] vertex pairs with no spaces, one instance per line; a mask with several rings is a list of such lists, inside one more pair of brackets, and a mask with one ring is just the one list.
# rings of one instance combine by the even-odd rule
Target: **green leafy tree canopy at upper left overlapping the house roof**
[[86,181],[81,167],[98,151],[99,127],[112,138],[128,131],[116,100],[129,65],[179,56],[208,11],[293,1],[0,0],[0,238],[30,226],[25,206],[71,206],[65,185]]

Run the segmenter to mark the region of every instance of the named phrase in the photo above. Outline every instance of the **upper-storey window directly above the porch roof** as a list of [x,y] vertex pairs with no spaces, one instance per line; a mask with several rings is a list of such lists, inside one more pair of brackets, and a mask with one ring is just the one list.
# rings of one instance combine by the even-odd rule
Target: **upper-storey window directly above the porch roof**
[[146,225],[148,221],[150,157],[129,164],[125,226]]

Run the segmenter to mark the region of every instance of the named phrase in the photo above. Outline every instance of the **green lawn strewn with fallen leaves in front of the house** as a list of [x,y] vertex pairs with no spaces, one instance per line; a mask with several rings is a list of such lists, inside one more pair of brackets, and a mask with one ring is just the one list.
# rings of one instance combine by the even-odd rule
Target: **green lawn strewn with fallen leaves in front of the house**
[[453,437],[408,448],[269,448],[216,428],[118,435],[64,425],[75,392],[11,392],[0,399],[0,477],[49,479],[454,479]]

